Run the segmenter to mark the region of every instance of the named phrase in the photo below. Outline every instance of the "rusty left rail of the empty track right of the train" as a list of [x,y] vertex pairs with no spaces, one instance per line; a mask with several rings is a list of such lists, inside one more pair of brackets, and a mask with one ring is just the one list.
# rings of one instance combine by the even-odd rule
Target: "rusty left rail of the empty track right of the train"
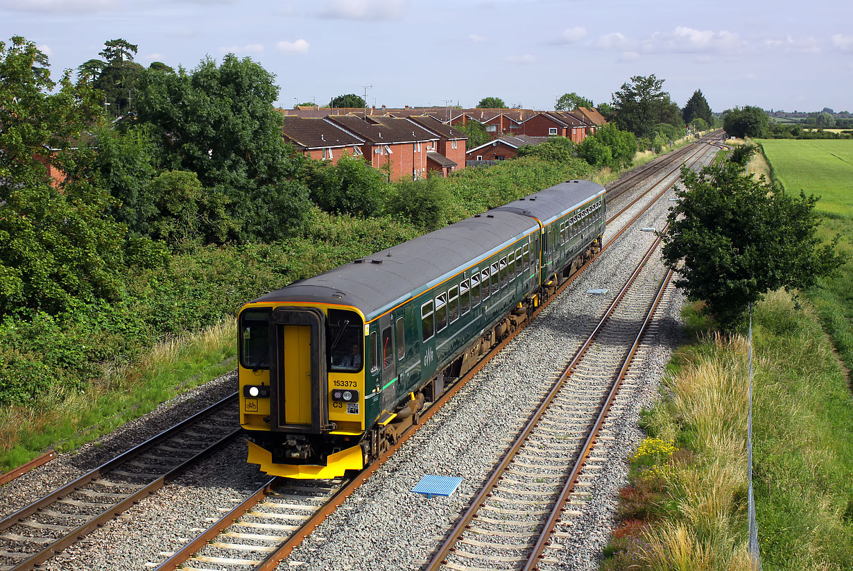
[[521,431],[519,436],[516,437],[513,446],[511,446],[509,450],[504,453],[501,462],[498,463],[496,468],[492,470],[488,480],[486,480],[483,487],[480,488],[480,491],[477,496],[471,500],[471,504],[468,506],[468,509],[465,511],[464,514],[462,514],[459,521],[456,522],[456,526],[453,527],[448,536],[444,539],[444,543],[438,548],[436,554],[432,556],[430,562],[427,563],[426,569],[429,569],[430,571],[435,571],[436,569],[441,568],[446,563],[447,556],[450,555],[450,551],[453,551],[455,549],[456,544],[459,542],[459,539],[461,539],[462,533],[464,533],[467,527],[470,526],[471,521],[473,521],[474,516],[476,516],[479,512],[480,507],[485,504],[485,498],[487,498],[493,491],[494,487],[496,486],[497,482],[502,478],[509,464],[513,462],[516,453],[519,452],[522,446],[524,446],[525,441],[533,432],[533,429],[536,428],[539,420],[543,417],[545,412],[548,411],[548,407],[554,401],[557,394],[560,393],[560,390],[565,386],[566,381],[572,375],[572,371],[575,370],[577,364],[589,350],[589,347],[592,346],[601,329],[606,325],[606,323],[608,323],[612,312],[614,312],[617,306],[622,302],[624,295],[628,293],[629,289],[634,284],[636,277],[645,268],[648,260],[652,258],[654,251],[658,248],[660,240],[661,237],[658,236],[652,246],[648,248],[647,253],[643,256],[643,259],[641,260],[640,264],[637,265],[635,270],[631,273],[631,276],[628,278],[627,282],[624,284],[623,288],[621,288],[619,293],[612,300],[610,306],[607,308],[606,312],[599,320],[599,323],[595,325],[595,328],[589,334],[586,341],[583,342],[581,347],[578,347],[577,351],[572,357],[572,360],[569,362],[569,364],[566,365],[562,373],[560,373],[560,378],[557,380],[557,382],[554,383],[554,386],[551,387],[551,390],[548,391],[548,394],[539,403],[539,405],[537,406],[537,410],[533,413],[533,415],[525,424],[525,428]]

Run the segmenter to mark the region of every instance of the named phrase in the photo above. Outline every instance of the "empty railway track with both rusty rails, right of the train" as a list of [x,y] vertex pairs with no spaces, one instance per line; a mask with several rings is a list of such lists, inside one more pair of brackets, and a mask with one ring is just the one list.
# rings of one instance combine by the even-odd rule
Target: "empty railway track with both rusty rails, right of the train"
[[[669,283],[670,272],[649,264],[658,261],[659,243],[660,237],[426,569],[537,568],[558,522],[579,515],[572,502],[583,502],[589,485],[579,481],[581,469]],[[591,462],[589,471],[596,466]]]

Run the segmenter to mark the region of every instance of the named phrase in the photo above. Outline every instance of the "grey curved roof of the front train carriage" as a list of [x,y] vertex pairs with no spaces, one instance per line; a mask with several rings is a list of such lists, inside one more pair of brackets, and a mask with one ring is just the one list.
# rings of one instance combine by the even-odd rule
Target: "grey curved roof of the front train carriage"
[[539,229],[518,213],[478,214],[325,271],[254,302],[297,301],[355,306],[368,321]]

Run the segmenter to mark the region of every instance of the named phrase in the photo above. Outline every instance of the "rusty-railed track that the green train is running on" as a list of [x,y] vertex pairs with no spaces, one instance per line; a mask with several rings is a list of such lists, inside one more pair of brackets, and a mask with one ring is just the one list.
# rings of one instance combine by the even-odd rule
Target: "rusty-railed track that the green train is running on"
[[[705,148],[693,149],[687,160],[699,160],[704,151]],[[673,163],[670,163],[670,166]],[[680,165],[681,161],[678,161],[678,164]],[[672,172],[668,172],[663,178],[660,178],[659,181],[621,208],[618,213],[612,215],[611,220],[618,218],[630,207],[633,207],[642,197],[649,195],[655,189],[658,190],[653,199],[646,206],[640,207],[639,212],[624,224],[624,228],[603,245],[602,252],[611,246],[618,239],[622,231],[630,227],[647,208],[651,207],[654,201],[659,200],[660,196],[676,183],[675,180],[669,183],[666,182],[671,174]],[[590,259],[572,278],[562,283],[558,294],[592,261]],[[541,312],[543,307],[538,308],[537,313]],[[438,411],[468,380],[473,378],[492,356],[499,353],[502,347],[512,340],[513,336],[510,335],[502,341],[473,370],[469,371],[461,382],[456,383],[441,399],[433,403],[427,411],[424,411],[421,417],[422,421],[426,421],[429,417],[432,417],[435,411]],[[613,341],[611,339],[608,342],[616,343],[619,346],[624,345],[624,341]],[[322,481],[321,490],[318,492],[320,496],[310,495],[310,490],[307,490],[304,484],[294,487],[293,482],[286,479],[272,479],[268,481],[240,505],[236,506],[233,510],[229,510],[221,519],[212,521],[210,527],[204,530],[195,530],[200,532],[200,534],[184,545],[181,550],[174,553],[161,553],[162,556],[167,556],[168,559],[159,566],[156,566],[155,571],[171,571],[177,568],[243,568],[252,569],[252,571],[263,571],[276,568],[283,558],[287,557],[339,504],[344,502],[345,498],[360,486],[363,481],[366,481],[369,475],[372,475],[376,469],[379,469],[381,463],[384,463],[387,457],[390,457],[393,452],[402,446],[403,442],[408,440],[409,436],[414,434],[415,430],[416,427],[410,428],[406,434],[403,434],[403,439],[397,442],[390,451],[350,481]],[[309,496],[306,497],[305,493],[309,493]],[[315,498],[321,496],[327,498],[325,503],[315,501]],[[314,511],[309,514],[309,510],[311,509]],[[269,522],[270,519],[276,518],[286,520],[287,524]],[[264,521],[267,522],[264,523]],[[149,564],[149,567],[154,568],[155,565]]]

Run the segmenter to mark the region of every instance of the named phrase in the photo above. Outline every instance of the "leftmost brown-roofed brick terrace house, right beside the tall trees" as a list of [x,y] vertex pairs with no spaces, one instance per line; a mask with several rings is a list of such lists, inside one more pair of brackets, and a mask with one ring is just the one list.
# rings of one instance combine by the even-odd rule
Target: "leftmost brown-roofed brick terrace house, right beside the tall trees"
[[344,131],[323,119],[284,117],[281,127],[284,138],[299,149],[306,157],[316,160],[331,160],[337,164],[345,152],[350,156],[364,153],[364,139]]

